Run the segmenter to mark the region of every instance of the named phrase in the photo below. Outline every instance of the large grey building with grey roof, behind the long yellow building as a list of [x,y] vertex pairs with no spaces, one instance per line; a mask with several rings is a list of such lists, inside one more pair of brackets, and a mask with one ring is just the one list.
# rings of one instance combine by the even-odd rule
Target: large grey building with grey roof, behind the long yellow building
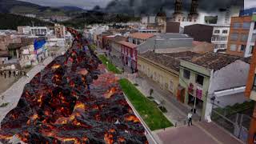
[[188,50],[193,47],[193,38],[186,34],[156,34],[138,46],[139,53],[145,53],[148,50],[156,53],[174,53],[179,50]]

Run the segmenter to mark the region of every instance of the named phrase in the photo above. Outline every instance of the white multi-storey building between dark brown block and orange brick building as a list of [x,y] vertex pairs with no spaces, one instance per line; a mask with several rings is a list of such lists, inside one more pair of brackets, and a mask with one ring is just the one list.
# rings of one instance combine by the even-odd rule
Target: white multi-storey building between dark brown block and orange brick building
[[227,41],[230,33],[230,26],[219,26],[213,25],[213,36],[211,38],[211,43],[214,44],[214,52],[220,50],[226,50]]

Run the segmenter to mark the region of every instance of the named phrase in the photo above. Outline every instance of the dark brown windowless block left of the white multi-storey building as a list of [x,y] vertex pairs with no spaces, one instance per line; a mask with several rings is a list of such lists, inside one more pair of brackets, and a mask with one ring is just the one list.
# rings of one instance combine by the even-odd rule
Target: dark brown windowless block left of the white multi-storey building
[[185,26],[184,34],[190,35],[190,37],[194,38],[194,41],[211,42],[213,30],[214,26],[194,24]]

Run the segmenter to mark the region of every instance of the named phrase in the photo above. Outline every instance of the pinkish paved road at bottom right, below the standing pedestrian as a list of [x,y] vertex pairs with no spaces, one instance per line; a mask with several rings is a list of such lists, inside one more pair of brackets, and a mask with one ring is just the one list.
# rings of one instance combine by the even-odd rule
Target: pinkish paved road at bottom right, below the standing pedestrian
[[242,144],[213,122],[197,122],[194,126],[181,126],[157,131],[163,144]]

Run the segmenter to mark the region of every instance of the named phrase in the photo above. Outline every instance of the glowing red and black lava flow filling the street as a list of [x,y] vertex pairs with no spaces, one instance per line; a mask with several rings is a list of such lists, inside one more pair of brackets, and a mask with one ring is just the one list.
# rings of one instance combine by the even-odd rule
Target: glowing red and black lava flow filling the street
[[14,137],[26,143],[148,143],[114,74],[88,42],[68,28],[74,42],[26,84],[13,110],[1,122],[0,142]]

